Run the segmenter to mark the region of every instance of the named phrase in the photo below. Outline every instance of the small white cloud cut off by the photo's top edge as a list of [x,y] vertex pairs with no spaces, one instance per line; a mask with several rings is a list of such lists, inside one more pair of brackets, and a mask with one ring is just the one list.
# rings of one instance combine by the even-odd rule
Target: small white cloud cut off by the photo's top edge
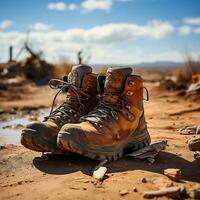
[[81,6],[85,11],[105,10],[109,11],[112,7],[112,0],[85,0]]

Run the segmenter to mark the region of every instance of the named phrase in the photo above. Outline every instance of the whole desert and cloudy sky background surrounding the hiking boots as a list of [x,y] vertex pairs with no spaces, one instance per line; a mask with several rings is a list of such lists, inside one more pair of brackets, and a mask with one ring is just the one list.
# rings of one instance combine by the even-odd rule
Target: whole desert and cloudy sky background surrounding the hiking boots
[[[21,145],[22,129],[49,115],[49,80],[76,64],[142,76],[151,141],[168,142],[154,165],[122,158],[96,181],[92,160]],[[199,131],[200,0],[0,0],[0,199],[200,199]]]

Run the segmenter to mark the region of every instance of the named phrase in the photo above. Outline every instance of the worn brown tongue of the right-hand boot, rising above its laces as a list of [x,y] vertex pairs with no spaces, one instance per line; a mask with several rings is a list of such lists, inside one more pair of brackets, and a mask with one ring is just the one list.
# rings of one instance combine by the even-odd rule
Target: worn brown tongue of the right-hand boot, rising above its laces
[[132,68],[108,68],[104,86],[105,93],[120,93],[124,89],[126,77],[132,73]]

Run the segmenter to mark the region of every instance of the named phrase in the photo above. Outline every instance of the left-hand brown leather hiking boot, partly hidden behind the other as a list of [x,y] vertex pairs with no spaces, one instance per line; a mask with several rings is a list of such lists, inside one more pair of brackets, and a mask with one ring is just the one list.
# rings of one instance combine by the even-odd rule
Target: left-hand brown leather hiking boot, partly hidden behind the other
[[50,115],[43,122],[32,123],[22,131],[21,143],[25,147],[40,152],[60,153],[56,140],[61,127],[65,123],[78,122],[81,116],[96,106],[97,75],[92,74],[90,66],[74,66],[67,79],[50,81],[51,88],[66,92],[66,101],[54,111],[52,105]]

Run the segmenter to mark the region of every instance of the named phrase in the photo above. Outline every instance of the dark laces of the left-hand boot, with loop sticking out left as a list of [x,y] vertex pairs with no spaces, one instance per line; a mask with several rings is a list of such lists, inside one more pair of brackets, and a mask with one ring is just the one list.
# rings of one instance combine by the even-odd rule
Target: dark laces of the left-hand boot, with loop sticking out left
[[[59,79],[51,79],[49,81],[49,87],[52,89],[59,89],[53,99],[51,111],[49,116],[45,117],[44,121],[48,119],[56,120],[60,125],[66,122],[72,122],[77,119],[82,113],[86,111],[84,101],[90,98],[90,95],[84,92],[81,88],[76,87],[73,83],[68,83]],[[71,96],[67,94],[66,100],[58,108],[53,110],[57,96],[61,92],[72,91],[76,95]]]

